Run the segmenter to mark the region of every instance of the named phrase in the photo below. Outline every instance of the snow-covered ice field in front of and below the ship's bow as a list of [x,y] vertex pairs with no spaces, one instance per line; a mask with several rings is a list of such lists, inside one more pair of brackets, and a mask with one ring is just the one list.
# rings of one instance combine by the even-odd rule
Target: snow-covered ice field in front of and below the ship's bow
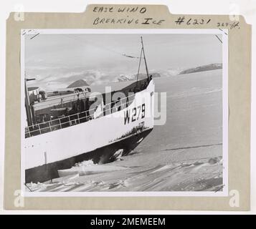
[[42,192],[222,190],[222,69],[158,77],[154,82],[156,92],[167,92],[166,125],[156,125],[120,160],[104,165],[82,162],[62,172],[65,177],[27,184],[27,188]]

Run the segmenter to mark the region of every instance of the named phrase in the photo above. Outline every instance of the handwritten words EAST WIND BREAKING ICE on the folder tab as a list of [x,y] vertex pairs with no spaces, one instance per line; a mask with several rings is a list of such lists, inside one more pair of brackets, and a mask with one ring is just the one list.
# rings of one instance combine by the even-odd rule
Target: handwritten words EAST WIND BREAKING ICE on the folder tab
[[[146,7],[118,7],[114,8],[113,6],[109,7],[101,7],[95,6],[93,8],[93,12],[95,13],[118,13],[122,15],[120,18],[105,18],[105,17],[96,17],[93,20],[94,25],[98,24],[154,24],[154,25],[161,25],[165,20],[163,19],[154,19],[151,16],[145,16],[143,19],[136,18],[136,14],[145,14],[147,11]],[[125,15],[126,14],[126,15]],[[129,16],[130,14],[134,14],[135,16]]]

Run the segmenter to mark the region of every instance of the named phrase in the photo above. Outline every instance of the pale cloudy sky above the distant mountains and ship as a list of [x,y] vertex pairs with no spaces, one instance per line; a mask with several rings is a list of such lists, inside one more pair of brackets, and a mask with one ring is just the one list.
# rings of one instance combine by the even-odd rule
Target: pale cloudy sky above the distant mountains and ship
[[[39,34],[25,40],[26,68],[99,69],[136,72],[141,34]],[[149,69],[222,63],[222,45],[214,34],[143,34]],[[220,35],[219,35],[220,36]]]

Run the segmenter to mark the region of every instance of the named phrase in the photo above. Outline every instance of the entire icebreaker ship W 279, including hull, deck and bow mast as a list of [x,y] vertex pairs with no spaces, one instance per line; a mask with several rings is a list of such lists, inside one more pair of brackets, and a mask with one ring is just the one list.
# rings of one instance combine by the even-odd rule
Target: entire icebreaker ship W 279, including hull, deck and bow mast
[[[83,160],[111,162],[117,152],[127,155],[153,130],[154,83],[148,74],[142,38],[141,44],[137,79],[133,81],[46,94],[36,87],[28,88],[25,79],[26,183],[58,177],[58,170]],[[146,79],[138,80],[141,60]]]

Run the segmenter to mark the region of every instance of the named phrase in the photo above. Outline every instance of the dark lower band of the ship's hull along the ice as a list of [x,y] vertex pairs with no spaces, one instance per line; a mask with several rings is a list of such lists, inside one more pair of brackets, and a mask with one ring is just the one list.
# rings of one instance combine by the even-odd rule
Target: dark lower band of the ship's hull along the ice
[[144,130],[139,134],[126,137],[118,142],[113,142],[105,147],[100,147],[96,150],[85,152],[75,157],[28,169],[25,171],[25,182],[44,182],[57,178],[59,177],[57,170],[68,169],[74,166],[75,163],[82,162],[84,160],[93,160],[94,163],[101,164],[111,162],[114,160],[113,155],[117,150],[123,149],[123,154],[127,155],[140,144],[138,141],[141,140],[142,137],[144,139],[152,130],[153,129]]

